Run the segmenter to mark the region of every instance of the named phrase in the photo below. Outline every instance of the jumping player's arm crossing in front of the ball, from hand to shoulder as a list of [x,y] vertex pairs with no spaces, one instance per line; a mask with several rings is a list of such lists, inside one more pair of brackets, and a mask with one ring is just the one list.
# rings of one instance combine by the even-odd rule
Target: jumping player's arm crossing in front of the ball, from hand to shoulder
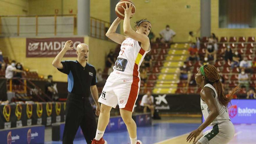
[[141,48],[143,50],[147,51],[149,46],[150,46],[149,38],[147,37],[147,35],[144,35],[144,34],[141,34],[141,33],[136,33],[131,28],[130,16],[133,15],[133,13],[131,13],[133,5],[131,3],[129,3],[129,7],[128,7],[127,3],[125,3],[125,4],[126,4],[126,8],[124,8],[122,6],[122,8],[125,10],[124,33],[128,37],[141,42]]

